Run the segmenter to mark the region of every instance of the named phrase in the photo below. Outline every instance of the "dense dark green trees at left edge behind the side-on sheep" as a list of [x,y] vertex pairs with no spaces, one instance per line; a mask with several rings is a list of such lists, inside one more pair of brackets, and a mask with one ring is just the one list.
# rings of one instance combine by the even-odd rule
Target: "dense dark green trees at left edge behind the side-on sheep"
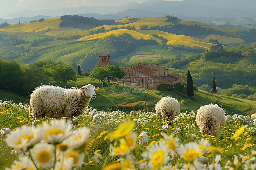
[[27,67],[12,59],[0,59],[0,89],[13,90],[23,96],[29,96],[42,84],[72,87],[76,78],[74,68],[61,61],[38,61]]

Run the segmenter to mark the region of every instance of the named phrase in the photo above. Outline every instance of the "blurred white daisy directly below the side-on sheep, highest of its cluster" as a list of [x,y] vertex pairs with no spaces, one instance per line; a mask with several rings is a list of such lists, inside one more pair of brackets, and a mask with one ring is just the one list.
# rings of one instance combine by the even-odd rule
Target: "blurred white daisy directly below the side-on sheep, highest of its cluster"
[[49,144],[58,144],[61,143],[70,135],[71,125],[67,126],[67,123],[64,119],[62,120],[50,120],[49,125],[47,122],[43,123],[40,128],[43,128],[42,136],[44,141]]

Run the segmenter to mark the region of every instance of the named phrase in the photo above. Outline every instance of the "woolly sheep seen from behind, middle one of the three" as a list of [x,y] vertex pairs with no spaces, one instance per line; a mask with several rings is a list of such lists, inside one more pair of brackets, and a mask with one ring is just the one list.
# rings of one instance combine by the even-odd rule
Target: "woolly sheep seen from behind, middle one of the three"
[[156,104],[156,114],[166,122],[165,118],[168,117],[169,125],[171,121],[178,116],[180,112],[180,105],[175,98],[172,97],[162,97]]

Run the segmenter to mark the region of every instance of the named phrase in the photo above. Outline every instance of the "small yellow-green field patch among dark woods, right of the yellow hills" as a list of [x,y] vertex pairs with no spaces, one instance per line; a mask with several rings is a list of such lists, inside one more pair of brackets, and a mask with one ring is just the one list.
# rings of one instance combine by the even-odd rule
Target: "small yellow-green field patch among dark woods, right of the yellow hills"
[[209,42],[210,39],[218,40],[218,43],[221,43],[221,44],[244,42],[244,40],[241,38],[232,38],[232,37],[214,35],[214,34],[210,34],[204,38],[204,40],[207,42]]

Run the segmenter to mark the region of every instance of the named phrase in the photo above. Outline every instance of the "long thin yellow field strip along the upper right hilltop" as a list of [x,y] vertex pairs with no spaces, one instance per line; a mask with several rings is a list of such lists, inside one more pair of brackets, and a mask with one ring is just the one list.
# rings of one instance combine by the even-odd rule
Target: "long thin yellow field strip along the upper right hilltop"
[[206,27],[206,28],[213,28],[214,30],[218,31],[222,31],[222,32],[227,32],[227,33],[238,33],[238,31],[244,31],[241,29],[237,29],[237,28],[229,28],[229,27],[218,27],[218,26],[213,26],[210,24],[205,24],[205,23],[201,23],[198,21],[181,21],[179,22],[180,24],[186,24],[186,25],[201,25],[202,27]]

